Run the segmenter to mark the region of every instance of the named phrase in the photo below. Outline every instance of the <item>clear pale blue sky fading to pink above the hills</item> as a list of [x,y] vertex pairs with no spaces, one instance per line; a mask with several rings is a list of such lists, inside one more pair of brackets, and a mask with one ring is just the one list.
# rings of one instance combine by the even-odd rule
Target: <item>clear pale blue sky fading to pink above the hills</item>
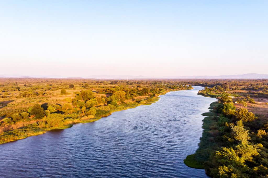
[[0,1],[0,75],[268,73],[268,1]]

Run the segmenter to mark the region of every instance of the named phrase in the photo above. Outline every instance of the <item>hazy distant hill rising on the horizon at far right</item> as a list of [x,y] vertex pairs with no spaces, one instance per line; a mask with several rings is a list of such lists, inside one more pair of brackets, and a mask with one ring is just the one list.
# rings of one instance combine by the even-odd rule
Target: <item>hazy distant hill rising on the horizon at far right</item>
[[181,79],[266,79],[268,74],[239,74],[239,75],[220,75],[220,76],[178,76]]

